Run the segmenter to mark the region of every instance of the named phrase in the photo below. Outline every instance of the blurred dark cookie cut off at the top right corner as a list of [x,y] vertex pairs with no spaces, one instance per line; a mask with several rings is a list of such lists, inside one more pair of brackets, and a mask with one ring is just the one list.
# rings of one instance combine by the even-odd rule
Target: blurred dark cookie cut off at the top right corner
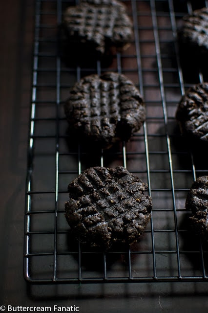
[[195,10],[183,18],[179,39],[189,46],[191,53],[208,53],[208,8]]

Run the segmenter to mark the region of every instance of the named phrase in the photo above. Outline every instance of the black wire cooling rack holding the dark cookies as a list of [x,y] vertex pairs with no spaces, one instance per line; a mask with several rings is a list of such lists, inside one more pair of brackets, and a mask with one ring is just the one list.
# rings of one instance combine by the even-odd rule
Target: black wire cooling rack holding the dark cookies
[[[193,3],[194,2],[194,3]],[[197,3],[196,3],[197,2]],[[188,227],[187,191],[207,175],[175,121],[185,90],[206,70],[183,68],[177,29],[184,15],[207,1],[126,0],[134,41],[104,67],[65,64],[57,53],[57,25],[73,1],[36,0],[34,63],[26,180],[24,276],[32,283],[207,281],[208,251]],[[73,47],[72,47],[73,48]],[[83,54],[84,58],[84,54]],[[81,77],[124,73],[146,102],[146,122],[129,142],[92,150],[70,142],[63,103]],[[64,217],[67,185],[90,166],[124,165],[149,185],[152,218],[128,251],[95,252],[74,243]]]

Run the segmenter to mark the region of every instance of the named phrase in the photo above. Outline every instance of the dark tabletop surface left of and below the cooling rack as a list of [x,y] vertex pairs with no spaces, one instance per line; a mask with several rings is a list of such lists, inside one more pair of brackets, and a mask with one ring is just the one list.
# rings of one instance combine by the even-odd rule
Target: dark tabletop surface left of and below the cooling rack
[[[79,306],[80,312],[208,312],[207,283],[27,285],[23,231],[34,1],[1,2],[0,306]],[[6,310],[7,311],[7,310]]]

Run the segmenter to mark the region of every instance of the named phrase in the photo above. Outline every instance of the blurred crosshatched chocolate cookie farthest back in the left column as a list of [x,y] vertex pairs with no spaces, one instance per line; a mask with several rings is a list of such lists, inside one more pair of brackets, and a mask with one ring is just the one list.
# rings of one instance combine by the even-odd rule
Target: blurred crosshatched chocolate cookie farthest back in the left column
[[[125,5],[117,0],[85,0],[68,7],[62,28],[70,49],[98,56],[112,47],[124,49],[132,40],[132,22]],[[84,57],[83,55],[83,57]]]

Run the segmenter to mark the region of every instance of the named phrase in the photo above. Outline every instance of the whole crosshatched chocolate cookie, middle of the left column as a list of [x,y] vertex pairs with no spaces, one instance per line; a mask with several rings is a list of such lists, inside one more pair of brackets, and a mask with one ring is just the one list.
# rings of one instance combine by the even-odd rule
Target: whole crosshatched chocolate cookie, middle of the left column
[[146,117],[138,89],[125,75],[112,72],[81,79],[71,89],[64,110],[72,134],[103,148],[128,140]]

